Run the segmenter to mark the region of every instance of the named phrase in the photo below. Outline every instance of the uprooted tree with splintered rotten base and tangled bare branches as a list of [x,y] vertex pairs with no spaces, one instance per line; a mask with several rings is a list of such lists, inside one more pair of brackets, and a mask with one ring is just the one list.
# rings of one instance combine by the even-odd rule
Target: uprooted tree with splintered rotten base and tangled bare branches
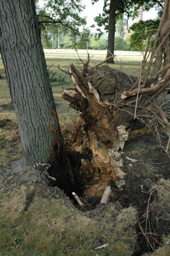
[[[150,37],[138,78],[129,77],[106,65],[88,70],[87,64],[84,64],[86,72],[83,68],[83,73],[77,71],[73,64],[70,65],[71,81],[76,88],[65,89],[63,98],[80,113],[80,124],[72,136],[72,149],[81,153],[92,152],[94,179],[98,173],[98,179],[101,176],[103,180],[94,185],[95,189],[100,190],[102,183],[103,187],[107,187],[114,182],[118,188],[125,184],[126,173],[121,169],[123,161],[120,151],[128,139],[134,119],[157,119],[167,129],[170,127],[162,111],[170,84],[169,11],[169,0],[166,0],[148,67]],[[154,69],[149,78],[155,55]],[[83,161],[82,165],[90,168],[87,161]]]

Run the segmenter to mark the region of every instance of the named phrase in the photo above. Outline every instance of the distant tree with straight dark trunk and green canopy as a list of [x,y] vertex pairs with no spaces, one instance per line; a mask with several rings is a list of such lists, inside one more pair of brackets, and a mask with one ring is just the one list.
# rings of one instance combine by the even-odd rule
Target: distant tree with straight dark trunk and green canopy
[[[92,4],[98,1],[92,0]],[[108,51],[106,57],[111,56],[111,53],[114,54],[116,19],[124,13],[127,14],[128,18],[135,18],[139,15],[140,6],[143,6],[143,10],[149,10],[157,5],[163,9],[164,0],[103,0],[103,13],[96,16],[94,21],[99,27],[104,26],[104,29],[108,32]],[[101,30],[98,29],[98,31],[101,34]],[[114,63],[114,60],[112,58],[107,62]]]

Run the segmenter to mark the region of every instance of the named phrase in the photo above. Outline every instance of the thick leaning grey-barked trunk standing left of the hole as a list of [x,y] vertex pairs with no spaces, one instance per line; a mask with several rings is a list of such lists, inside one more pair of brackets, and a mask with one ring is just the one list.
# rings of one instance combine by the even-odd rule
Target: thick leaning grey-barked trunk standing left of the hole
[[[67,157],[48,79],[35,1],[2,0],[0,21],[1,56],[27,165],[48,161],[54,167],[53,176],[65,179],[62,176],[66,177],[68,171],[63,162],[67,165]],[[69,187],[71,182],[69,179],[67,182]]]

